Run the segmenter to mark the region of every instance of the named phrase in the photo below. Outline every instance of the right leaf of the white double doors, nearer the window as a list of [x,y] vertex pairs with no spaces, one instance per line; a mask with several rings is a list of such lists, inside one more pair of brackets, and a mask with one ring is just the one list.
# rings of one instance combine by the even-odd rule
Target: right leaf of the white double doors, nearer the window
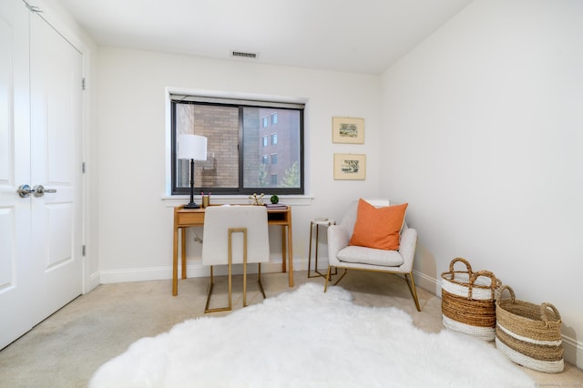
[[31,182],[36,317],[82,292],[81,55],[38,14],[30,19]]

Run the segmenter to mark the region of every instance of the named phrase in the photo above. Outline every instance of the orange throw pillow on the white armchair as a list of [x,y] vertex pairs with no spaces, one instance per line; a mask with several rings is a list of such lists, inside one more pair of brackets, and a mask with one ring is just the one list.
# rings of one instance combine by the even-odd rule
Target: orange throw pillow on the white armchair
[[359,199],[349,244],[377,250],[398,250],[407,205],[375,208],[364,199]]

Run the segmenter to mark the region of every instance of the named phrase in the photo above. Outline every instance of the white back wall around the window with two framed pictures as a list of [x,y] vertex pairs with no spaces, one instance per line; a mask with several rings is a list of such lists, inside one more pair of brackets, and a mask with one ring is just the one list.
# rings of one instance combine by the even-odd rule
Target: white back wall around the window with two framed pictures
[[[307,100],[306,194],[313,200],[292,208],[296,269],[302,264],[305,268],[312,218],[339,218],[351,200],[378,194],[380,77],[109,47],[99,49],[98,73],[98,251],[102,282],[171,277],[173,209],[162,200],[168,189],[166,87]],[[366,144],[332,144],[333,116],[364,117]],[[334,181],[334,152],[365,153],[367,179]],[[189,276],[198,273],[200,255],[191,237]],[[280,241],[273,242],[273,260],[281,260]],[[322,256],[325,250],[320,253]]]

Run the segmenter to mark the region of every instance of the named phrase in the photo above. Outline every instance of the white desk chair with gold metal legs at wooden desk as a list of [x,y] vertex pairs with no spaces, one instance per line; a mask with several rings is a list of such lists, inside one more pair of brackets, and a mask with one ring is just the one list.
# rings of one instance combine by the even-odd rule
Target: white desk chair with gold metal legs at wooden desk
[[[247,263],[259,263],[259,287],[261,262],[270,260],[267,209],[264,206],[210,206],[205,210],[202,263],[210,265],[210,285],[205,312],[230,311],[232,308],[232,264],[243,264],[243,307],[247,306]],[[229,267],[229,305],[209,309],[210,295],[214,286],[213,265]]]

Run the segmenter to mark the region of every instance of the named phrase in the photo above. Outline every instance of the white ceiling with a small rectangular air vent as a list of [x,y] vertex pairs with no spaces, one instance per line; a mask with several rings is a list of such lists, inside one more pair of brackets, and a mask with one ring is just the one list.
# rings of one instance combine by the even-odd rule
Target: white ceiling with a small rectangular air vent
[[364,74],[382,73],[471,1],[58,0],[100,46]]

